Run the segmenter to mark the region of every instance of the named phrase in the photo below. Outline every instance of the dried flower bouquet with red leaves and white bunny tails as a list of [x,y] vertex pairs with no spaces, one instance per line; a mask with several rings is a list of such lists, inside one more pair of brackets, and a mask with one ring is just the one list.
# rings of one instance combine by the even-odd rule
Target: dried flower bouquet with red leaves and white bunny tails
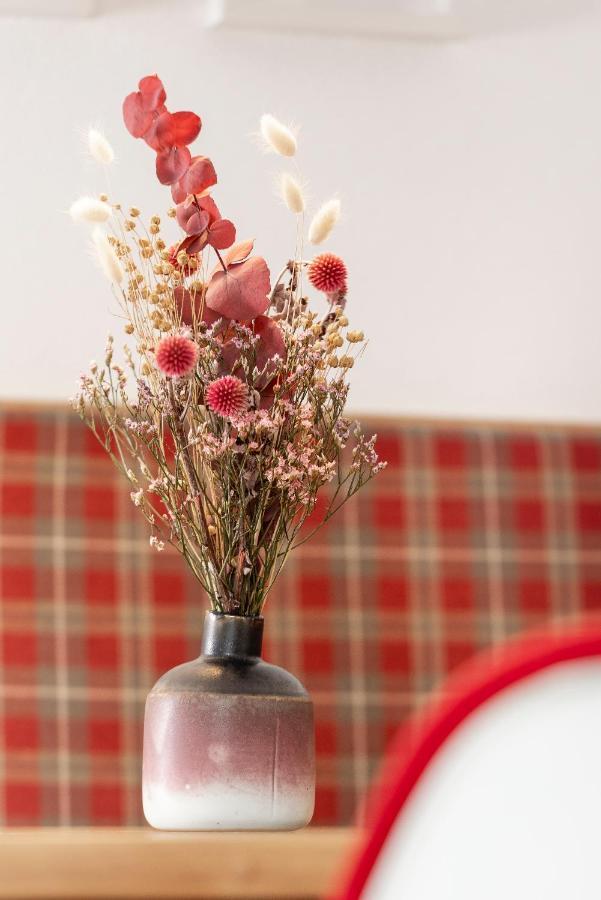
[[[175,204],[167,215],[183,235],[166,241],[159,216],[145,225],[136,207],[125,214],[105,194],[71,207],[74,219],[95,225],[98,260],[134,342],[121,367],[109,337],[74,405],[128,478],[151,545],[160,551],[168,541],[181,552],[215,612],[257,616],[288,553],[307,538],[300,530],[319,491],[331,483],[315,528],[383,466],[375,436],[343,415],[363,333],[349,330],[344,262],[330,253],[303,259],[298,180],[281,176],[297,239],[272,284],[253,241],[236,242],[210,194],[211,160],[188,149],[199,117],[170,113],[165,101],[151,75],[125,99],[123,115],[155,151]],[[294,134],[273,116],[262,117],[260,130],[268,148],[295,154]],[[88,140],[109,164],[103,135],[92,130]],[[321,207],[311,243],[326,240],[339,212],[335,199]],[[309,285],[321,294],[321,312],[305,294]]]

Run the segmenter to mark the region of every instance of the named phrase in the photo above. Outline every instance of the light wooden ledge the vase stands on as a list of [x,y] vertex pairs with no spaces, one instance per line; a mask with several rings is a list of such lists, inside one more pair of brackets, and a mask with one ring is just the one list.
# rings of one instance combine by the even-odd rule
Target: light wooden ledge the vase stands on
[[0,830],[0,900],[309,900],[358,832]]

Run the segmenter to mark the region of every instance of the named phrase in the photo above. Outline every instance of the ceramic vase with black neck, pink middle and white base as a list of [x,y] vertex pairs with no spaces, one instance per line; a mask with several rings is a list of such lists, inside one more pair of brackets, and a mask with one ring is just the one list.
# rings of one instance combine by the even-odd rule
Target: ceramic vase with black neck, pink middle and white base
[[167,830],[288,830],[313,814],[313,706],[261,659],[263,619],[208,612],[198,659],[166,672],[144,718],[144,815]]

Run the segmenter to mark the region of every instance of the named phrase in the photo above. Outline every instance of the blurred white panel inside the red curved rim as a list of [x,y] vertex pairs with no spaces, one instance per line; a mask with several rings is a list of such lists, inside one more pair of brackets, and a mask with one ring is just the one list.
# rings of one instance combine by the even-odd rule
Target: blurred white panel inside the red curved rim
[[601,661],[562,663],[460,726],[365,900],[599,900]]

